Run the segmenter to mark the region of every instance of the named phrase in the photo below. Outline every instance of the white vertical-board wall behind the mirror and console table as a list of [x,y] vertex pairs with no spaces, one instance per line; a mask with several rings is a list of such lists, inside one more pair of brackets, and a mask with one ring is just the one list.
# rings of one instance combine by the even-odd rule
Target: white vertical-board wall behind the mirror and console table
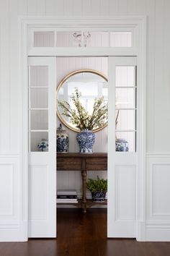
[[[107,57],[57,57],[56,58],[57,85],[63,77],[78,69],[94,69],[107,77]],[[58,124],[60,123],[57,120]],[[66,128],[66,127],[65,127]],[[79,152],[76,142],[76,132],[66,128],[69,135],[69,152]],[[107,127],[95,133],[94,152],[107,152]],[[107,171],[88,171],[88,178],[107,179]],[[78,196],[82,195],[81,173],[79,171],[57,171],[58,189],[76,189]],[[88,194],[87,197],[90,195]]]

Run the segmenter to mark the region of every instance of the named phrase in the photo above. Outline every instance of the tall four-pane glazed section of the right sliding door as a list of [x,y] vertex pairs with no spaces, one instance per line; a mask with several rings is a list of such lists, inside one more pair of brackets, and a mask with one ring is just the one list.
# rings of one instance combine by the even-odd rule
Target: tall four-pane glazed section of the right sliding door
[[116,151],[122,143],[128,145],[125,151],[135,151],[136,138],[136,72],[135,66],[117,65],[115,67],[115,116]]

